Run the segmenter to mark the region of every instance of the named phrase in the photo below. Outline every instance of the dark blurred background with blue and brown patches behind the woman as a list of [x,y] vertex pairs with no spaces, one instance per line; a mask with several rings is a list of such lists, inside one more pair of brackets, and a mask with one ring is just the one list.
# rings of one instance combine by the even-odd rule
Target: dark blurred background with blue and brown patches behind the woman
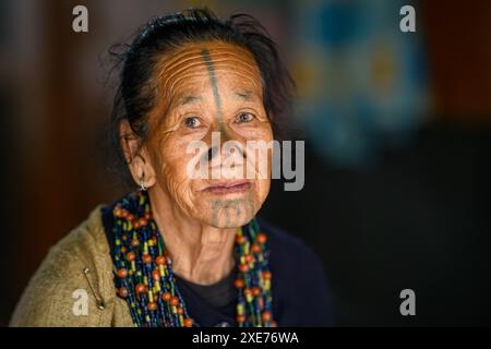
[[[88,33],[72,31],[77,4]],[[321,256],[336,323],[491,325],[488,0],[1,1],[0,325],[49,246],[123,193],[101,157],[105,52],[203,4],[256,16],[298,83],[306,185],[275,181],[261,215]],[[416,33],[399,31],[405,4]]]

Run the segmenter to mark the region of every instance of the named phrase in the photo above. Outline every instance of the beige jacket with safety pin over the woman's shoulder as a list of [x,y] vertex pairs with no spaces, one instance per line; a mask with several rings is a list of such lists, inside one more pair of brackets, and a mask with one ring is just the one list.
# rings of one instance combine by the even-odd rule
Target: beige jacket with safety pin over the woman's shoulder
[[134,326],[127,302],[116,296],[100,208],[50,249],[11,326]]

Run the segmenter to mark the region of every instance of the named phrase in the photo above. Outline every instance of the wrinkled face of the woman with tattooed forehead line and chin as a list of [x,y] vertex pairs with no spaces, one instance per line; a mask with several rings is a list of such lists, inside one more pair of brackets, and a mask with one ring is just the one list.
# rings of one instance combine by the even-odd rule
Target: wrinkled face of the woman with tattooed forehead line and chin
[[[158,192],[202,224],[217,228],[247,224],[270,191],[271,152],[252,156],[246,143],[273,140],[254,58],[230,44],[188,44],[164,58],[156,71],[159,100],[149,116],[146,151]],[[212,140],[218,137],[220,143],[213,148]],[[196,141],[208,148],[190,152]],[[227,152],[226,141],[240,146]],[[197,170],[197,158],[209,160],[207,176],[203,163]],[[267,176],[260,174],[264,166]]]

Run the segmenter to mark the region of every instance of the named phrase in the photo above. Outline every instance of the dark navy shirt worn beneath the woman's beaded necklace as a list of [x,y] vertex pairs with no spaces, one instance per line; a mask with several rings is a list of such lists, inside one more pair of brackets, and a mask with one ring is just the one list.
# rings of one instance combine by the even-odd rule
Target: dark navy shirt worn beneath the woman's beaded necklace
[[[109,207],[110,208],[110,207]],[[109,246],[111,209],[103,209]],[[331,326],[333,309],[322,264],[299,238],[259,219],[268,238],[270,269],[273,274],[273,318],[278,326]],[[203,327],[233,326],[237,292],[233,272],[209,286],[196,285],[176,276],[194,324]]]

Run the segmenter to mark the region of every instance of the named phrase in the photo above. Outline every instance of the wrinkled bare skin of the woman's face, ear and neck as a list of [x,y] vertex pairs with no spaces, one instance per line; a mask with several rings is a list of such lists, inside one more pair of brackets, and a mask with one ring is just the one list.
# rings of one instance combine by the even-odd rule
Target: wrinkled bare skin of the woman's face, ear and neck
[[[236,229],[260,209],[270,178],[191,179],[188,164],[195,154],[187,154],[187,147],[193,141],[211,146],[212,132],[219,132],[221,144],[243,145],[247,164],[247,141],[272,141],[261,75],[248,50],[219,41],[187,44],[163,57],[156,71],[158,100],[148,116],[148,140],[142,148],[127,141],[123,148],[135,182],[144,174],[175,272],[211,284],[231,270]],[[121,132],[131,132],[129,125],[123,123]],[[270,168],[271,156],[265,160]],[[254,161],[253,168],[259,166]],[[212,161],[209,169],[216,167]],[[236,191],[228,190],[237,183]]]

